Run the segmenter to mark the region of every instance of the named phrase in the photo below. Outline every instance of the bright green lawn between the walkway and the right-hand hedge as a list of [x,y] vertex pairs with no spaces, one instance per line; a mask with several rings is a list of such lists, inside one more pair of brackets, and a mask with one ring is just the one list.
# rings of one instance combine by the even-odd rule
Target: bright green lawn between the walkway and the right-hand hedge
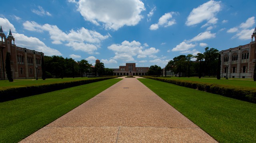
[[218,142],[256,143],[256,104],[158,80],[138,80]]

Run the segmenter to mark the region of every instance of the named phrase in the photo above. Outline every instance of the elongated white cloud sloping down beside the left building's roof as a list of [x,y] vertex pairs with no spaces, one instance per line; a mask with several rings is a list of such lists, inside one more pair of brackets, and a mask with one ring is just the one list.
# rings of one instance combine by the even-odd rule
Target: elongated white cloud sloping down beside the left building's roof
[[62,55],[58,50],[47,47],[44,42],[40,41],[36,37],[27,37],[24,34],[12,33],[15,37],[15,43],[19,47],[42,51],[44,55],[52,56],[52,55]]

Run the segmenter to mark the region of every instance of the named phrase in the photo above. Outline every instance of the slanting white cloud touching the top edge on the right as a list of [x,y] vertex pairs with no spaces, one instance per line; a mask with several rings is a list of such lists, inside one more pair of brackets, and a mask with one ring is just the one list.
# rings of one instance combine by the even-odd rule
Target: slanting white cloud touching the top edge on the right
[[207,21],[208,24],[216,24],[218,20],[216,14],[221,10],[220,4],[221,2],[210,0],[194,8],[187,18],[186,25],[196,25],[203,21]]

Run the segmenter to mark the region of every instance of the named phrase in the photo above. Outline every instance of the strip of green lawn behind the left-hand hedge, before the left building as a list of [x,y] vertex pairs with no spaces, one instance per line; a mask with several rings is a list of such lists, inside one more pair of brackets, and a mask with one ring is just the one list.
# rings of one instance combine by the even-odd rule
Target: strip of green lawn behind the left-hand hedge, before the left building
[[94,79],[87,77],[77,77],[77,78],[47,78],[46,80],[42,79],[15,79],[13,82],[9,82],[9,80],[0,80],[0,90],[9,87],[22,87],[22,86],[31,86],[31,85],[43,85],[48,83],[60,83],[60,82],[69,82],[69,81],[78,81],[78,80],[86,80],[86,79]]

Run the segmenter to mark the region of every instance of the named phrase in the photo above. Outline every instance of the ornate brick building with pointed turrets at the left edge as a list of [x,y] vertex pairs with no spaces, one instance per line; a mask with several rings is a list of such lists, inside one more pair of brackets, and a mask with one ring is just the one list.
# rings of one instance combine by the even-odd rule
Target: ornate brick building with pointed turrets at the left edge
[[5,68],[7,52],[10,53],[13,79],[42,77],[41,63],[44,53],[16,46],[11,30],[6,38],[2,26],[0,27],[0,37],[0,80],[7,80]]

